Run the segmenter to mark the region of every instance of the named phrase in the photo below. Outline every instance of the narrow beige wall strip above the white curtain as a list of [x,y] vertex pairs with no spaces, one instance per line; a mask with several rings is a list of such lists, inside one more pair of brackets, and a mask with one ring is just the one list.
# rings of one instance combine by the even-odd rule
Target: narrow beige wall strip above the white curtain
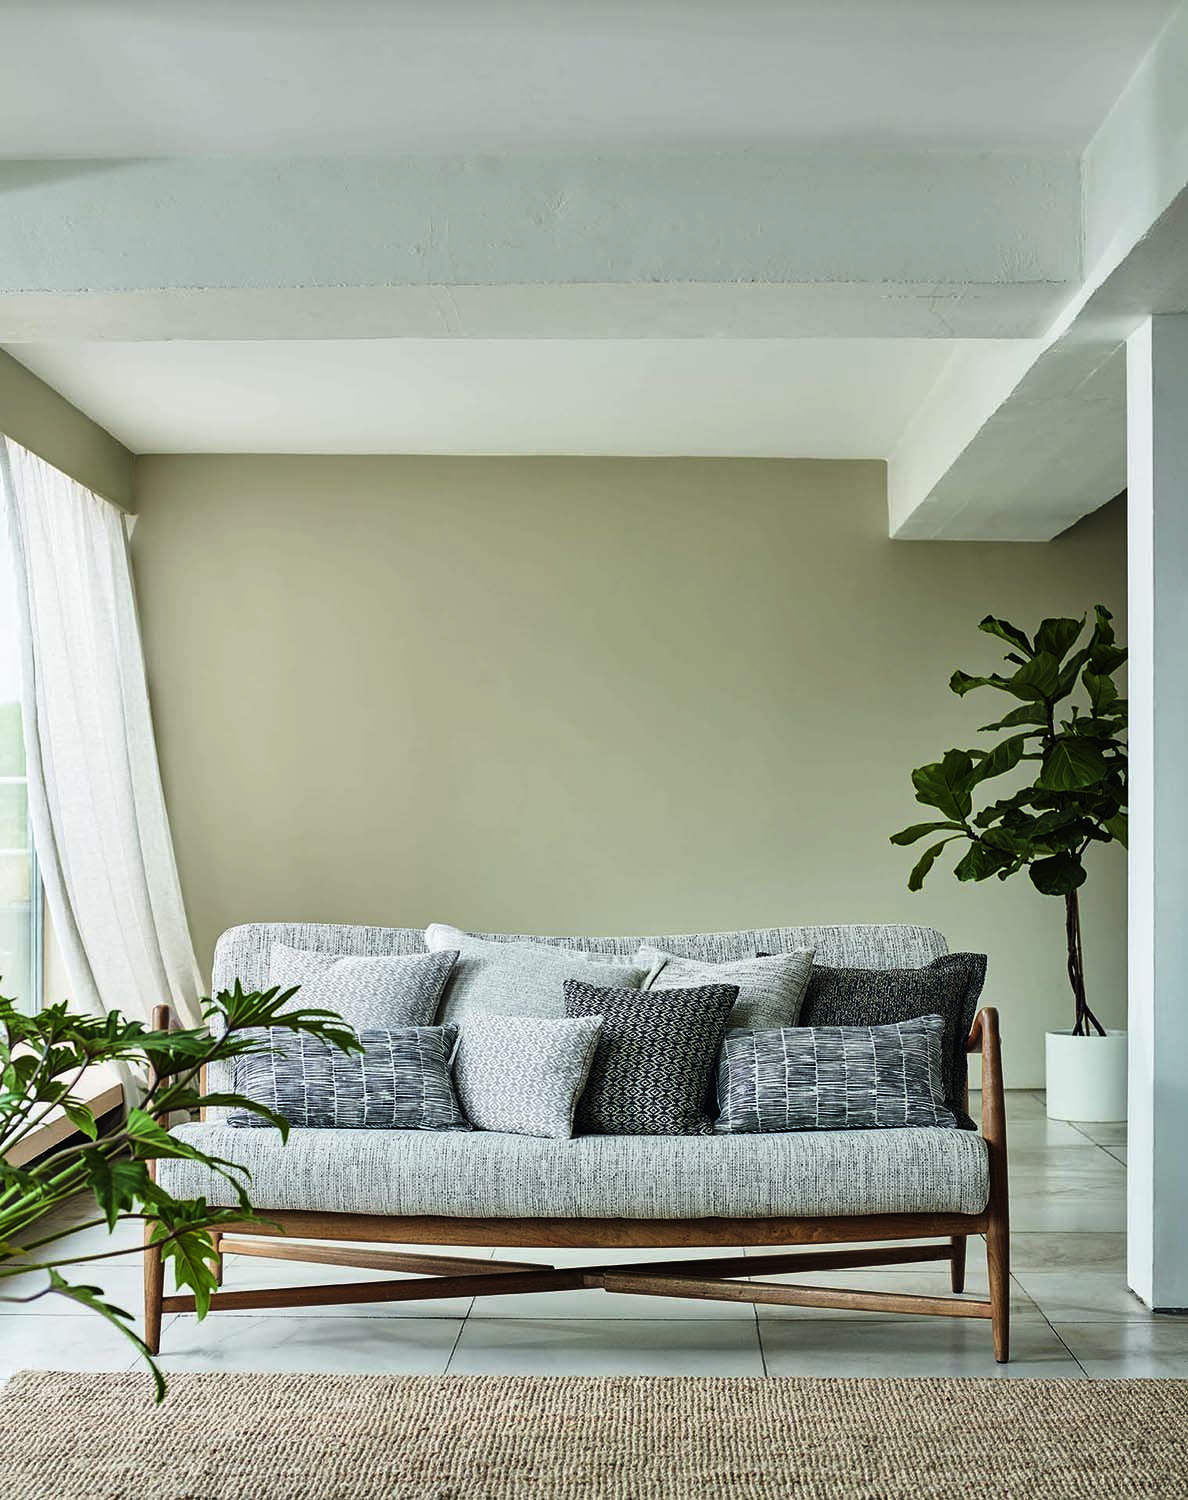
[[132,507],[132,454],[0,350],[0,432],[96,494]]

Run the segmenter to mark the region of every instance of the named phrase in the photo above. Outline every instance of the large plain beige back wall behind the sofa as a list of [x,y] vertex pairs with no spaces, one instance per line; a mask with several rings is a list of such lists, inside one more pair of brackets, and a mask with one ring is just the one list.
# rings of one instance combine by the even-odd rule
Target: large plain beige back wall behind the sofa
[[[879,464],[150,458],[134,554],[204,964],[237,921],[537,932],[922,921],[990,954],[1008,1082],[1068,1011],[1062,906],[910,896],[909,771],[1023,624],[1124,609],[1124,516],[888,542]],[[972,741],[969,741],[972,742]],[[1125,861],[1088,894],[1125,1004]]]

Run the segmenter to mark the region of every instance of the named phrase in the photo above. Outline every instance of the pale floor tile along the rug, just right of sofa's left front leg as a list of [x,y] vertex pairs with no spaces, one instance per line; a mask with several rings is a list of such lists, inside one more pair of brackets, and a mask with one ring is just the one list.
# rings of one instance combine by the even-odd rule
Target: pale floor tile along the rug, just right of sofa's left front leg
[[160,1368],[330,1374],[444,1374],[459,1318],[224,1317],[182,1312],[160,1341]]

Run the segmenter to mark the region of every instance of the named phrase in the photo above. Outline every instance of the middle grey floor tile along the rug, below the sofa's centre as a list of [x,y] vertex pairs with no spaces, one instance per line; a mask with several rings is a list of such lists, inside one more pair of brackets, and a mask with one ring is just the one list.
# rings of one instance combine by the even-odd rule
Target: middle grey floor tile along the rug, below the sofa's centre
[[762,1376],[754,1320],[468,1318],[452,1376]]

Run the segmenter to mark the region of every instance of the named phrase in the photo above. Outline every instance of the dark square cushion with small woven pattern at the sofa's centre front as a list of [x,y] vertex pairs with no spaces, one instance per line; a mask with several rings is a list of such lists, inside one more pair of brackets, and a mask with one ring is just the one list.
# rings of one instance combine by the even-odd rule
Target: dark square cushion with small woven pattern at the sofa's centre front
[[566,980],[568,1016],[602,1016],[576,1128],[603,1136],[704,1136],[706,1090],[735,984],[606,990]]

